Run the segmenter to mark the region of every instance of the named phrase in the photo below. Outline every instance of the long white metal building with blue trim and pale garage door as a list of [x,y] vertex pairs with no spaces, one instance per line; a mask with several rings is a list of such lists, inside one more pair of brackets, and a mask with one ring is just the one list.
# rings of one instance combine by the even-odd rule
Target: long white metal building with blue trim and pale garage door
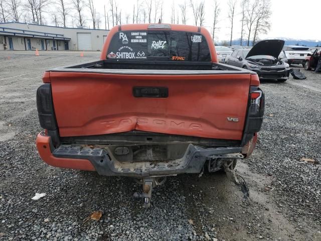
[[0,50],[100,51],[109,30],[0,23]]

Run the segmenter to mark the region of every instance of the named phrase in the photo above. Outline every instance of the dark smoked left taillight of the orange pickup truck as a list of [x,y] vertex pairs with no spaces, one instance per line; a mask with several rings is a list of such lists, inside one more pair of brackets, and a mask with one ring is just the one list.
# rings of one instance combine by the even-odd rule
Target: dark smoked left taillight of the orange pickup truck
[[40,126],[48,131],[57,130],[51,84],[43,84],[37,89],[37,109]]

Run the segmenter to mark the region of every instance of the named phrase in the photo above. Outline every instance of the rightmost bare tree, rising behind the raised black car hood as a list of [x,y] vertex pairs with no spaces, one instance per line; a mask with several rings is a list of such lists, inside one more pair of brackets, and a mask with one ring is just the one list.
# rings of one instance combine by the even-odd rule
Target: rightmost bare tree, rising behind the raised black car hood
[[271,2],[270,0],[260,0],[256,11],[256,23],[253,36],[253,46],[256,43],[258,34],[267,34],[270,30]]

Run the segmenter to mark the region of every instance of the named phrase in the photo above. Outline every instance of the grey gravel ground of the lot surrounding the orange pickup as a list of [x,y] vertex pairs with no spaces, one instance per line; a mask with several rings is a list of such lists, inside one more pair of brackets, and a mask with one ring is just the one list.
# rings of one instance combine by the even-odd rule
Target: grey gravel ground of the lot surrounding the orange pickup
[[[264,125],[237,166],[249,200],[223,173],[180,175],[155,188],[144,209],[131,179],[53,168],[35,147],[43,71],[98,58],[0,51],[0,240],[321,240],[321,74],[262,82]],[[36,192],[46,196],[34,201]],[[88,220],[93,211],[99,221]]]

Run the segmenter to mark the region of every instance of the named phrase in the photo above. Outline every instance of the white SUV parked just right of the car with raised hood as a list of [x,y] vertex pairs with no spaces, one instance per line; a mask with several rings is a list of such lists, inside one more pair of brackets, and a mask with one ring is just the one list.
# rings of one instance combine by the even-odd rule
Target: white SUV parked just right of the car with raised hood
[[287,60],[289,65],[291,64],[303,64],[307,54],[311,54],[309,47],[304,46],[284,46],[279,58],[284,61]]

